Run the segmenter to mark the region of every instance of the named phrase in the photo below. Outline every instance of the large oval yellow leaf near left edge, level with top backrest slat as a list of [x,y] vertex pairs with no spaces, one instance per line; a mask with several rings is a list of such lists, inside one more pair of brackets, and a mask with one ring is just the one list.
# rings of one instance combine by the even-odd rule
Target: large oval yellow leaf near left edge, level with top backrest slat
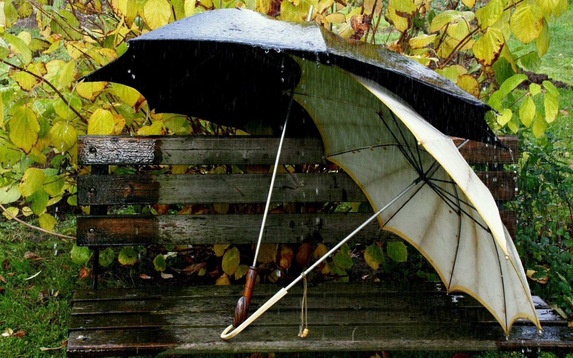
[[28,154],[38,141],[40,123],[36,113],[28,107],[18,107],[10,119],[10,140]]

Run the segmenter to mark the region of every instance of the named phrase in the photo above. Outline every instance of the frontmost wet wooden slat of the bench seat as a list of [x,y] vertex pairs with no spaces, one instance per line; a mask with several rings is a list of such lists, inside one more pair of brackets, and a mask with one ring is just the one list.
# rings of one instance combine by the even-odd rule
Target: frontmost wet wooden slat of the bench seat
[[[216,319],[216,318],[214,318]],[[221,328],[142,329],[71,332],[67,356],[185,355],[238,352],[308,351],[492,351],[541,347],[573,347],[573,328],[551,327],[539,336],[535,327],[514,326],[510,340],[496,326],[475,325],[378,325],[314,326],[308,337],[297,337],[293,326],[249,327],[229,341],[223,341]]]

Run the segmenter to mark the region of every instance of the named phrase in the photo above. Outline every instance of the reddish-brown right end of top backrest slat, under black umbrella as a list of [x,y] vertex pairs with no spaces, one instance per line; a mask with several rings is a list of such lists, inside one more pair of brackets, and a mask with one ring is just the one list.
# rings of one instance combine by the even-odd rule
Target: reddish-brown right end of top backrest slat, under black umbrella
[[[463,139],[452,138],[456,145],[460,145]],[[460,154],[464,156],[466,162],[470,164],[512,164],[517,163],[519,152],[519,138],[517,136],[499,137],[501,143],[509,148],[505,150],[500,147],[494,147],[481,143],[479,141],[469,141],[468,144],[460,148]]]

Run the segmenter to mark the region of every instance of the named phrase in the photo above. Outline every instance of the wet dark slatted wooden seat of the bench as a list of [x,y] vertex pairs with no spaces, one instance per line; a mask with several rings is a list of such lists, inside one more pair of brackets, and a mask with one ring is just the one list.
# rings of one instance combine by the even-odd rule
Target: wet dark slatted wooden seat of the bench
[[[357,282],[319,284],[308,290],[309,335],[300,329],[301,288],[231,340],[219,335],[233,322],[242,287],[78,290],[69,324],[68,357],[142,354],[304,351],[490,351],[565,353],[573,328],[539,297],[543,325],[528,321],[505,334],[472,297],[449,296],[441,284]],[[257,285],[251,312],[280,286]]]

